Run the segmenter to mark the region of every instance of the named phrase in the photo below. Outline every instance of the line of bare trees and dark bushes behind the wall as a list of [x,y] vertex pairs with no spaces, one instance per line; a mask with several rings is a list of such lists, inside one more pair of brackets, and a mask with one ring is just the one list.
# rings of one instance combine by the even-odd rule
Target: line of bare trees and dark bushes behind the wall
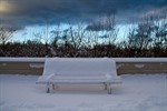
[[16,30],[0,27],[0,57],[167,57],[167,18],[159,20],[153,14],[143,19],[129,28],[121,41],[117,41],[119,29],[110,14],[105,23],[87,27],[79,23],[59,30],[57,26],[48,31],[47,24],[45,36],[36,32],[36,40],[24,42],[8,42]]

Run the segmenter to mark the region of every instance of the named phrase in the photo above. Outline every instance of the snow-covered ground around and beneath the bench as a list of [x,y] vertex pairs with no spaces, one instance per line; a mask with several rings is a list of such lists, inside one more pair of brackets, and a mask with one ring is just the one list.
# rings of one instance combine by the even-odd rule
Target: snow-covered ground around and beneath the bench
[[121,75],[107,94],[104,85],[59,85],[46,93],[38,75],[0,75],[0,111],[167,111],[167,74]]

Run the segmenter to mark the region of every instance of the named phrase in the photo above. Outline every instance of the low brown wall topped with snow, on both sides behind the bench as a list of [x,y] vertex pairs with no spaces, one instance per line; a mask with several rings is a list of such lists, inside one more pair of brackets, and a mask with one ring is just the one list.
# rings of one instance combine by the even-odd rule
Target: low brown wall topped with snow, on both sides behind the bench
[[[118,74],[167,73],[167,58],[114,58]],[[0,74],[42,74],[46,58],[0,58]]]

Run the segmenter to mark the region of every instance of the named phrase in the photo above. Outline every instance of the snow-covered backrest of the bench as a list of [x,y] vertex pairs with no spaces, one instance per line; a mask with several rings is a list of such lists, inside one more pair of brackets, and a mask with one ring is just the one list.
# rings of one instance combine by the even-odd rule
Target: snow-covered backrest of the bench
[[108,58],[51,58],[45,62],[43,75],[111,74],[117,77],[116,62]]

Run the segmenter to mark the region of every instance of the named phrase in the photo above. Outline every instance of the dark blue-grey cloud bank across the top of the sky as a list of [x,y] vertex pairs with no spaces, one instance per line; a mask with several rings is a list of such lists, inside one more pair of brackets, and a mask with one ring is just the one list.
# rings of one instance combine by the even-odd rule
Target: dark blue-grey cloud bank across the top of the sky
[[[166,0],[0,0],[0,21],[17,26],[94,21],[115,13],[117,20],[129,21],[155,9],[166,10]],[[3,7],[3,8],[2,8]],[[167,11],[161,14],[167,14]]]

